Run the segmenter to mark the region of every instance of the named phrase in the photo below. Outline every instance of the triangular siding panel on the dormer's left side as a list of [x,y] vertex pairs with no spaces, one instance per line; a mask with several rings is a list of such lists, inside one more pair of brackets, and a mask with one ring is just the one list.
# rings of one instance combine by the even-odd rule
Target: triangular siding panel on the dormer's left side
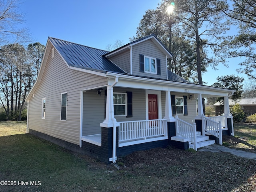
[[130,50],[126,50],[125,52],[122,52],[116,56],[109,58],[114,64],[116,64],[118,67],[120,67],[122,70],[124,70],[127,73],[131,72],[130,68]]

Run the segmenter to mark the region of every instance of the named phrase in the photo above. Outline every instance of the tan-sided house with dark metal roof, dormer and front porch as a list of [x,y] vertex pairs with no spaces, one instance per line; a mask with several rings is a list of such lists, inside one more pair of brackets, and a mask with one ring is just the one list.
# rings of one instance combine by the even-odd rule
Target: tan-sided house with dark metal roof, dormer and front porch
[[[28,94],[27,131],[109,163],[136,150],[197,148],[233,135],[233,90],[191,84],[167,69],[172,54],[154,35],[112,52],[48,38]],[[202,98],[224,97],[224,116]],[[210,140],[211,139],[211,140]]]

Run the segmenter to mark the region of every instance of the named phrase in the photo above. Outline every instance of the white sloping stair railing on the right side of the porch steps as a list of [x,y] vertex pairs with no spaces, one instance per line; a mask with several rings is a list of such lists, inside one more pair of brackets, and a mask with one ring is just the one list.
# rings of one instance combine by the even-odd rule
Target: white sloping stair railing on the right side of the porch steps
[[214,135],[220,140],[220,145],[222,145],[222,129],[221,122],[216,122],[202,114],[202,134],[205,135],[205,132],[208,134]]

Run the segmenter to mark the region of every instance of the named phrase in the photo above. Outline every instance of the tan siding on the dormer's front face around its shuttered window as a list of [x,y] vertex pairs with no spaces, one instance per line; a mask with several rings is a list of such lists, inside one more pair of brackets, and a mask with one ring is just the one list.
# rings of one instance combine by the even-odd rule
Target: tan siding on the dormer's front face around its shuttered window
[[[161,60],[161,75],[140,72],[140,54]],[[152,78],[167,79],[166,75],[166,55],[152,42],[146,40],[132,46],[132,74],[139,76],[147,76]]]

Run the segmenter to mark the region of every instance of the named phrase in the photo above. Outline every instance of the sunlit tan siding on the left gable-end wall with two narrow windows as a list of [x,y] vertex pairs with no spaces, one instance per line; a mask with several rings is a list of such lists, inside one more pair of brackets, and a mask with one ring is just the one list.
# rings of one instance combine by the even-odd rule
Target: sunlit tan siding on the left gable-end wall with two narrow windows
[[[80,90],[106,85],[107,78],[69,69],[56,50],[51,56],[50,53],[40,84],[29,100],[28,128],[79,144]],[[60,120],[63,92],[67,92],[66,121]],[[46,98],[45,119],[42,98]]]

